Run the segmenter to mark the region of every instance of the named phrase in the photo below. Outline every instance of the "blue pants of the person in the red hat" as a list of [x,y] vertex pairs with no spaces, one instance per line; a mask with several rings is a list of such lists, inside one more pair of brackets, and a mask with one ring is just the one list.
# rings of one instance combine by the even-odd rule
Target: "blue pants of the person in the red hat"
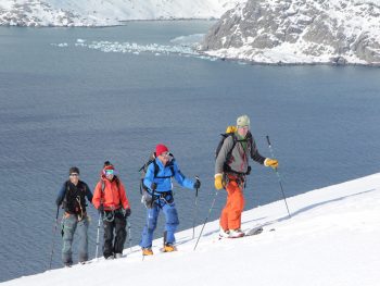
[[140,241],[142,248],[152,247],[153,232],[157,225],[160,209],[162,209],[165,214],[165,231],[167,232],[166,244],[174,244],[176,241],[174,234],[179,224],[179,220],[175,203],[164,203],[161,207],[154,203],[152,209],[147,209],[147,224],[143,227]]

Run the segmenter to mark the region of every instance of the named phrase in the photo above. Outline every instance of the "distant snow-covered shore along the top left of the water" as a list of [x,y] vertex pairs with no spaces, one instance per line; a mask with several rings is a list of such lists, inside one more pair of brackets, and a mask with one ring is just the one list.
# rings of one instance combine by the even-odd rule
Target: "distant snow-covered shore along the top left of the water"
[[246,0],[1,0],[0,25],[106,26],[129,20],[220,17]]

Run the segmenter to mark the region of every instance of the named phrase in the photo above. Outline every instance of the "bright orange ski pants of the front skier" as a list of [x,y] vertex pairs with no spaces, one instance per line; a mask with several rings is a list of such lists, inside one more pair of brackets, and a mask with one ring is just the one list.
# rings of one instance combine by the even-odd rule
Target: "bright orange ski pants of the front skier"
[[241,213],[244,209],[243,185],[239,185],[236,177],[229,176],[226,190],[227,202],[221,210],[219,224],[225,231],[237,229],[241,227]]

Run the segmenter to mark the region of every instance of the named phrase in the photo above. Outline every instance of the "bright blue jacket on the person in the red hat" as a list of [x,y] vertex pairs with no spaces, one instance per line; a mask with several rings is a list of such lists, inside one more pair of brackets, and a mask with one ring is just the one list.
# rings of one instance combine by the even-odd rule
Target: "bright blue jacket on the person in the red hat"
[[[169,191],[173,189],[172,176],[178,182],[178,184],[185,188],[193,189],[194,182],[185,177],[185,175],[179,171],[176,161],[173,159],[172,162],[167,163],[166,166],[160,161],[159,158],[155,159],[155,163],[159,166],[159,172],[156,177],[154,177],[154,162],[148,166],[143,184],[151,189],[152,183],[157,184],[157,188],[154,192]],[[172,165],[172,166],[170,166]],[[174,171],[174,174],[172,172]]]

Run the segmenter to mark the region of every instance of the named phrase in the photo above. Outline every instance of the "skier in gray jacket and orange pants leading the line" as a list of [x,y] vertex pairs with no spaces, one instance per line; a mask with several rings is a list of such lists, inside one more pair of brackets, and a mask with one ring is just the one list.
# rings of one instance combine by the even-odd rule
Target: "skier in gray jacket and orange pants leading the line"
[[[231,126],[235,127],[235,126]],[[229,127],[230,128],[230,127]],[[220,237],[241,237],[241,213],[244,209],[243,189],[245,176],[250,173],[249,158],[255,162],[277,169],[278,161],[261,156],[250,132],[250,117],[239,116],[231,136],[226,136],[215,162],[215,188],[225,188],[227,202],[221,211]]]

